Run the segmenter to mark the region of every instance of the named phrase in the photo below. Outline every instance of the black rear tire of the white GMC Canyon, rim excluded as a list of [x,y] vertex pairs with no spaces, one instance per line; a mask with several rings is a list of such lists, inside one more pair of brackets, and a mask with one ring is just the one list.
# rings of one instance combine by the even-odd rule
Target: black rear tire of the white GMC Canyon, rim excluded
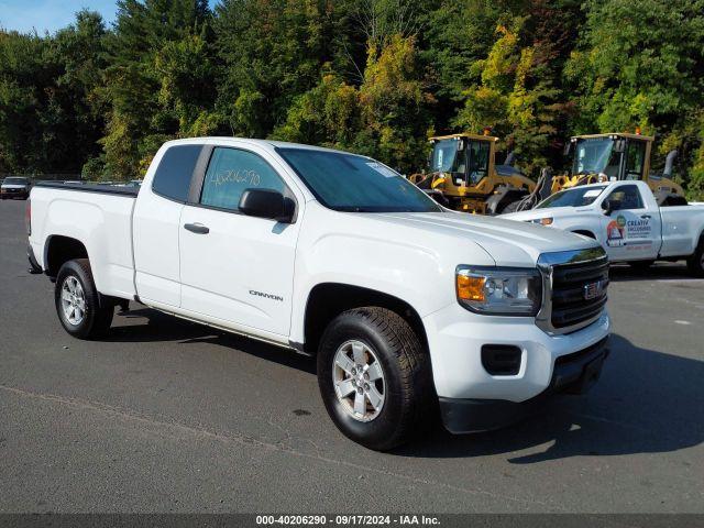
[[[78,323],[69,321],[68,317],[70,315],[67,316],[65,314],[62,302],[62,290],[69,277],[74,277],[82,289],[85,311]],[[54,301],[58,320],[64,329],[75,338],[97,339],[105,336],[110,328],[114,305],[106,299],[103,306],[100,306],[100,294],[96,289],[88,258],[68,261],[61,267],[56,275]]]

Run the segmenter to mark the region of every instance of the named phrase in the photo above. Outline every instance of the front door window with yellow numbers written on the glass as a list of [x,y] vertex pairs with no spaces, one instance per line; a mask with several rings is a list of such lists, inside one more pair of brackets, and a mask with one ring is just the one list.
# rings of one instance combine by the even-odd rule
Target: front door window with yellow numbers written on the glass
[[237,211],[246,189],[284,193],[278,174],[256,154],[240,148],[216,147],[202,184],[200,204]]

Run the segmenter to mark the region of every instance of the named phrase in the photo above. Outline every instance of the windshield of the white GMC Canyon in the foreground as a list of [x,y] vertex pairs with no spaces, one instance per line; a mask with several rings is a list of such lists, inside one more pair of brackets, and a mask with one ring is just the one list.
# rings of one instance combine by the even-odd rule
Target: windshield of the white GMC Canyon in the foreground
[[276,151],[326,207],[352,212],[442,211],[422,190],[370,157],[333,151]]

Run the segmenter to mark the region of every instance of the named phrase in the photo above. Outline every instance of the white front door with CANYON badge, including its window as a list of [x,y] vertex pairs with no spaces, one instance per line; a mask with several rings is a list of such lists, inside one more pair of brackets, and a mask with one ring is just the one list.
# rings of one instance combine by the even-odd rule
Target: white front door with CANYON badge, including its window
[[295,196],[258,154],[216,146],[198,202],[180,216],[182,308],[248,333],[288,336],[300,222],[242,213],[248,188]]

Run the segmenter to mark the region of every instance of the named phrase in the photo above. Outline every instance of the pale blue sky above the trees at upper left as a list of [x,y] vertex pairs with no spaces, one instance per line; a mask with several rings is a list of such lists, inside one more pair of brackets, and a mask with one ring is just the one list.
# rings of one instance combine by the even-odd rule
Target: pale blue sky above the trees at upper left
[[[215,4],[210,0],[210,4]],[[106,25],[114,21],[116,0],[0,0],[0,28],[22,33],[36,30],[40,35],[67,26],[84,8],[102,14]]]

